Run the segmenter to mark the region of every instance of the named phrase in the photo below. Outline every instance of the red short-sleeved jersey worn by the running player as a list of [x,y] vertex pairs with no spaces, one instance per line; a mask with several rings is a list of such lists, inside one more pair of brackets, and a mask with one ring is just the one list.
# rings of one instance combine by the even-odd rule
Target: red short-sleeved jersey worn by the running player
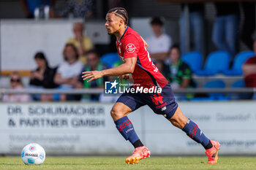
[[132,73],[135,85],[144,88],[150,88],[153,85],[164,88],[167,85],[168,81],[151,61],[148,50],[146,50],[143,39],[138,32],[127,26],[120,41],[116,39],[116,48],[118,55],[123,60],[132,57],[137,58],[135,70]]

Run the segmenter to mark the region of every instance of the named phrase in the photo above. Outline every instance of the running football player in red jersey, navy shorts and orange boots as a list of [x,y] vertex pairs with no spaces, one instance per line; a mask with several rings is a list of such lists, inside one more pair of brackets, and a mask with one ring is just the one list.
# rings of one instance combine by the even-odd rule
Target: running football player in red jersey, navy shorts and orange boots
[[82,76],[83,80],[90,82],[103,76],[119,76],[120,79],[127,79],[129,74],[132,74],[135,84],[133,88],[136,88],[135,86],[139,86],[139,88],[151,88],[152,86],[162,88],[162,93],[123,93],[113,106],[110,114],[116,128],[124,136],[124,139],[129,140],[135,147],[135,151],[125,162],[129,164],[138,163],[151,154],[140,141],[132,122],[127,117],[135,109],[148,105],[155,113],[163,115],[195,142],[202,144],[206,149],[208,163],[217,163],[219,142],[208,139],[197,124],[183,115],[176,103],[170,85],[151,61],[146,50],[146,42],[136,31],[127,26],[127,23],[126,9],[116,7],[108,11],[105,26],[108,34],[116,36],[118,55],[124,63],[113,69],[83,72]]

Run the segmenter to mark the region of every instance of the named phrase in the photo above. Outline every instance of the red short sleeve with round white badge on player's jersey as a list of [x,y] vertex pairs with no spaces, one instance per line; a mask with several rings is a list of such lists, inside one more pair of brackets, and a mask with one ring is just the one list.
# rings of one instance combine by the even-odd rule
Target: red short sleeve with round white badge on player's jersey
[[122,44],[122,49],[124,50],[124,59],[125,58],[137,58],[138,51],[140,49],[140,43],[135,35],[129,35],[127,39]]

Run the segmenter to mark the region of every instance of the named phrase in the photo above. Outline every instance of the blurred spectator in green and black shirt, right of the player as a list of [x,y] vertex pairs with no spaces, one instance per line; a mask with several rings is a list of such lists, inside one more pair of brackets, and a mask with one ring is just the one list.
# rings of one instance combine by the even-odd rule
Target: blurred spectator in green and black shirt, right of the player
[[192,71],[187,63],[181,61],[181,53],[178,46],[174,45],[170,48],[169,57],[170,65],[166,67],[165,73],[172,88],[194,88]]

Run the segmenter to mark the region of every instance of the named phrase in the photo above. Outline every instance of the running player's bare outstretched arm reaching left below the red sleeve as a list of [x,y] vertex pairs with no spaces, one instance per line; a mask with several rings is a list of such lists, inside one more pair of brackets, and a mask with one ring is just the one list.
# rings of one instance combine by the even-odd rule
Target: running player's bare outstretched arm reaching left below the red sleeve
[[137,58],[125,58],[124,63],[120,66],[117,66],[113,69],[105,69],[102,71],[91,71],[91,72],[83,72],[83,80],[88,80],[91,82],[92,80],[99,79],[104,76],[118,76],[121,74],[129,74],[133,73],[135,69]]

